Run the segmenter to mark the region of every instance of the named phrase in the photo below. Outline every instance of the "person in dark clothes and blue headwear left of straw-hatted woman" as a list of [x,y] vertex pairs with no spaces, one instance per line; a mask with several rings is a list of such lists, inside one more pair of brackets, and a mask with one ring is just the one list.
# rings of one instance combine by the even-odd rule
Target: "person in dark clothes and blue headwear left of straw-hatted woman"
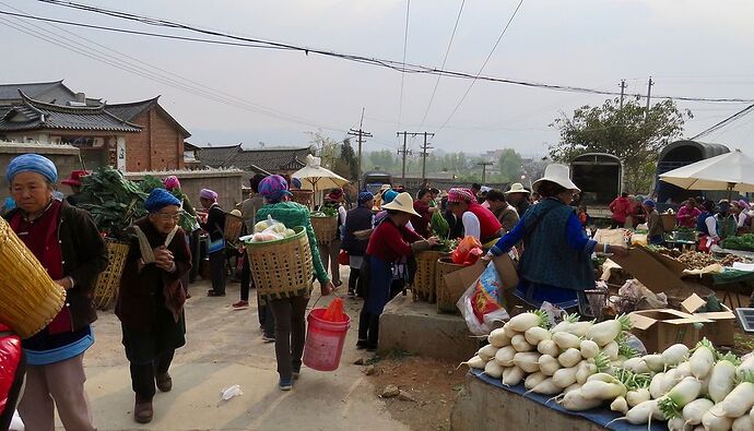
[[375,216],[372,214],[372,207],[375,205],[375,196],[368,191],[358,193],[358,206],[351,209],[345,217],[345,225],[343,226],[343,244],[341,248],[349,253],[349,266],[351,274],[349,275],[349,296],[356,295],[356,285],[358,275],[364,262],[364,254],[366,253],[366,246],[369,243],[368,239],[358,239],[355,232],[360,230],[369,230],[374,225]]

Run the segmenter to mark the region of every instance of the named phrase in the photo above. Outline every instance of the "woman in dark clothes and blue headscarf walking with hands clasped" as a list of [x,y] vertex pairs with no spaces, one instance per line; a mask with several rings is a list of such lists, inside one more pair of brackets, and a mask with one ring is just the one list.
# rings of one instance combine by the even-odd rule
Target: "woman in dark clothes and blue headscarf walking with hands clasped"
[[144,207],[150,214],[133,224],[115,308],[136,393],[133,419],[139,423],[152,420],[155,381],[162,392],[173,387],[168,369],[175,349],[186,344],[181,277],[191,268],[186,235],[178,226],[180,201],[165,189],[154,189]]

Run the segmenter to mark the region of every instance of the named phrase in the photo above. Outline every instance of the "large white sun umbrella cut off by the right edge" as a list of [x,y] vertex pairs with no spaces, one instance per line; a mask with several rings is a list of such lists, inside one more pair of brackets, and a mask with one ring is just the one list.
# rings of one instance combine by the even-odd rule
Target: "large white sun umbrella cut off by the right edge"
[[754,192],[754,160],[737,149],[670,170],[660,180],[686,190]]

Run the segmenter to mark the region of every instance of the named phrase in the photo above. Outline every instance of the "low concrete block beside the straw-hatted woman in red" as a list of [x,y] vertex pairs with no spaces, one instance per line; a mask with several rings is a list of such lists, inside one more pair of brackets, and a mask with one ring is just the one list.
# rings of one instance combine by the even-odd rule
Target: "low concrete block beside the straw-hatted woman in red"
[[464,361],[476,351],[476,339],[463,318],[437,314],[437,306],[397,296],[379,319],[379,348],[400,348],[416,356]]

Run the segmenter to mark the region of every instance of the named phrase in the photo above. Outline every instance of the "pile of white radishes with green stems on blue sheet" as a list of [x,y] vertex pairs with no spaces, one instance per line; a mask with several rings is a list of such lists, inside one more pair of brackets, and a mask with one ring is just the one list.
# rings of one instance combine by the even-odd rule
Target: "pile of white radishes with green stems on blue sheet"
[[505,385],[553,395],[573,411],[610,406],[616,420],[671,431],[754,431],[754,355],[743,362],[707,339],[635,357],[624,344],[627,318],[592,323],[570,315],[547,330],[541,312],[514,316],[464,362]]

